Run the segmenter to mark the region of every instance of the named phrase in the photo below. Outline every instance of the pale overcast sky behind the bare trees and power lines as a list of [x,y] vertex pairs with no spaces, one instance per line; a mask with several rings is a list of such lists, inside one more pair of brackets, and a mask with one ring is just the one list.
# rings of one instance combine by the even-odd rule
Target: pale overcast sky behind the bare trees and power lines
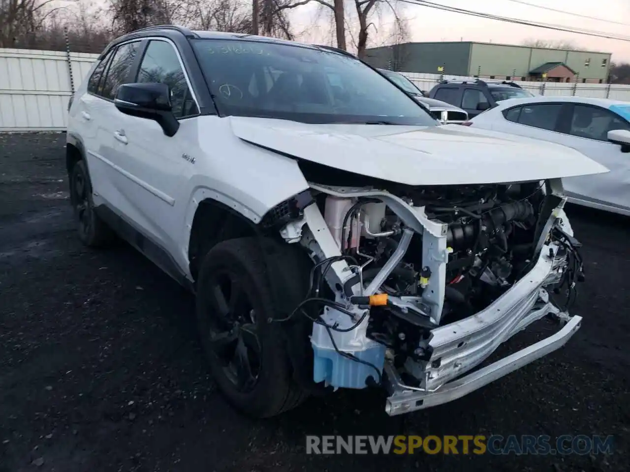
[[[553,23],[571,28],[602,31],[630,37],[630,26],[616,25],[604,20],[617,21],[630,25],[630,0],[524,0],[527,3],[548,6],[565,12],[588,16],[579,18],[571,14],[556,13],[540,8],[514,3],[509,0],[432,0],[455,8],[465,8],[483,13],[509,16],[519,20]],[[409,20],[411,40],[413,41],[478,41],[493,43],[520,44],[527,39],[563,40],[573,42],[587,50],[612,52],[613,60],[630,62],[630,42],[595,38],[563,31],[546,30],[533,26],[514,25],[501,21],[485,20],[458,13],[450,13],[422,6],[405,5],[402,16]],[[292,15],[296,29],[309,29],[303,40],[322,41],[328,34],[326,21],[320,20],[319,26],[312,27],[316,13],[315,6],[297,8]],[[387,28],[391,28],[392,17],[384,15],[379,24],[379,33],[375,42],[386,40]],[[370,34],[374,35],[374,31]],[[374,45],[374,42],[371,45]]]

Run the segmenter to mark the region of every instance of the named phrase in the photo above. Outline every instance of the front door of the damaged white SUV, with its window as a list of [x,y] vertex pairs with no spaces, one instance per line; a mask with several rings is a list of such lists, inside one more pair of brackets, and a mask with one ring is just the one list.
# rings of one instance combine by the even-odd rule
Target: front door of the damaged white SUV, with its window
[[180,56],[168,40],[149,41],[133,81],[168,84],[180,129],[168,137],[156,121],[115,110],[113,147],[120,168],[115,185],[137,229],[174,254],[179,234],[173,231],[178,225],[175,210],[188,203],[181,201],[184,176],[195,165],[198,142],[197,123],[186,118],[197,116],[198,106]]

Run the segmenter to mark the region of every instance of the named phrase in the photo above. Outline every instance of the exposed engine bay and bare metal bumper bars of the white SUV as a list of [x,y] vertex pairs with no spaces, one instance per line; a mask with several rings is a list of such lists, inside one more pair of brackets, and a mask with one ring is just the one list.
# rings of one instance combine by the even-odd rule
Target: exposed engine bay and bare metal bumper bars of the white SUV
[[[311,184],[287,210],[294,217],[281,218],[280,234],[314,261],[309,294],[292,313],[313,321],[314,381],[335,389],[384,384],[387,412],[398,414],[450,401],[530,362],[524,354],[512,367],[492,364],[449,393],[527,324],[571,320],[583,266],[563,204],[559,179]],[[563,298],[561,306],[547,289]],[[578,327],[573,320],[561,340],[527,355],[557,349]]]

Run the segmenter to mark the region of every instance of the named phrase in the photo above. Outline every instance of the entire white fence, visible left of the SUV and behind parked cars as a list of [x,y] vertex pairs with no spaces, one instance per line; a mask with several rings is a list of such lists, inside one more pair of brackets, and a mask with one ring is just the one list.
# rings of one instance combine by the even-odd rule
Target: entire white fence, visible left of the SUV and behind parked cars
[[[76,90],[98,54],[71,53],[70,56]],[[442,79],[439,74],[403,74],[425,91]],[[630,85],[517,83],[534,94],[630,101]],[[71,94],[65,52],[0,48],[0,132],[65,130]]]

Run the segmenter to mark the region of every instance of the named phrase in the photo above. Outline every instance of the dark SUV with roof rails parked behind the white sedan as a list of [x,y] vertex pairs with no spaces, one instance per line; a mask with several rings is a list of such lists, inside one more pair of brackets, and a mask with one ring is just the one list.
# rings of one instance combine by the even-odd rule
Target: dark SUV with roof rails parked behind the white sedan
[[430,98],[459,106],[468,113],[469,118],[493,108],[500,101],[532,96],[515,82],[481,79],[442,81],[429,93]]

